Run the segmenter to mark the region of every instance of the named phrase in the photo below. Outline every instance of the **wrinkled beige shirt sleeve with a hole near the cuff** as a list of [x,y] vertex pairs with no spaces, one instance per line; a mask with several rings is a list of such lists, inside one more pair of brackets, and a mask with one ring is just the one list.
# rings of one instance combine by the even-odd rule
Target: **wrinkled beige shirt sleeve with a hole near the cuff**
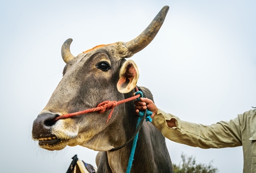
[[[176,119],[176,127],[169,128],[166,120]],[[152,119],[152,124],[171,141],[194,147],[222,148],[241,146],[239,120],[221,121],[212,125],[189,123],[180,120],[171,113],[158,109],[158,114]]]

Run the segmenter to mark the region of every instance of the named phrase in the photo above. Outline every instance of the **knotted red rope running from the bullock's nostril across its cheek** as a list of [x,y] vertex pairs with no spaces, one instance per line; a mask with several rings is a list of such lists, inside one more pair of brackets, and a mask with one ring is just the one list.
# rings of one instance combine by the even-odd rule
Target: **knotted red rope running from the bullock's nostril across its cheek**
[[[135,87],[135,91],[138,91],[137,86]],[[107,120],[107,123],[108,123],[109,119],[112,116],[114,108],[116,106],[118,106],[119,104],[122,104],[122,103],[130,102],[131,100],[135,100],[135,99],[139,98],[139,96],[141,96],[141,95],[138,94],[138,95],[132,96],[130,98],[120,100],[118,102],[117,101],[109,101],[109,100],[104,101],[104,102],[101,102],[100,104],[98,104],[98,106],[96,108],[85,109],[84,111],[79,111],[79,112],[74,112],[74,113],[68,113],[68,114],[65,114],[65,115],[61,115],[61,116],[58,116],[55,119],[53,119],[53,121],[57,121],[57,120],[60,120],[60,119],[68,119],[69,117],[82,115],[82,114],[90,113],[90,112],[104,113],[104,112],[108,111],[109,109],[112,109],[112,111],[109,113],[109,116],[108,116],[108,120]]]

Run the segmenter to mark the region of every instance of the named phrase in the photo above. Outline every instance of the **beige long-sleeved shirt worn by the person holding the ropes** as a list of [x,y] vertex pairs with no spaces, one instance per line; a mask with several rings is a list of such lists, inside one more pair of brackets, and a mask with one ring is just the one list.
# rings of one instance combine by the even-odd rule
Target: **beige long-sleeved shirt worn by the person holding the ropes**
[[[176,119],[176,127],[169,128],[166,120]],[[202,125],[182,121],[158,109],[152,124],[174,142],[203,149],[243,147],[243,172],[256,172],[256,109],[238,115],[229,121]]]

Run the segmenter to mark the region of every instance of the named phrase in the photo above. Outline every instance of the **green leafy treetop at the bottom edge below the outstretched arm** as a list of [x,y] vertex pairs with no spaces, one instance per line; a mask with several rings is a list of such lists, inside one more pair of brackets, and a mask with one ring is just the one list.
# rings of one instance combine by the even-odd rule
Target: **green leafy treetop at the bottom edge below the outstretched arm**
[[179,165],[173,164],[174,173],[216,173],[217,168],[212,166],[212,162],[207,164],[197,164],[196,159],[193,156],[187,157],[185,154],[181,154],[181,163]]

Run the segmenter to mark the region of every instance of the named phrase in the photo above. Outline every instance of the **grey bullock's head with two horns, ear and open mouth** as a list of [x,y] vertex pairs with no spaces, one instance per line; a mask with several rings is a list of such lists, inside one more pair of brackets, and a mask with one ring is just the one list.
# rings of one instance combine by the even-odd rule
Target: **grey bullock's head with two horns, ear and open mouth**
[[63,79],[34,120],[32,128],[32,138],[39,141],[40,147],[61,150],[67,145],[82,145],[101,151],[114,147],[115,142],[122,137],[118,137],[116,131],[114,134],[110,132],[122,132],[119,126],[125,118],[124,105],[114,109],[108,124],[106,117],[109,112],[88,113],[58,121],[53,119],[94,108],[105,100],[124,99],[124,93],[133,90],[139,77],[135,63],[125,58],[150,44],[162,26],[168,9],[168,6],[163,7],[141,35],[127,43],[99,45],[75,57],[69,49],[72,39],[65,41],[61,48],[66,63]]

